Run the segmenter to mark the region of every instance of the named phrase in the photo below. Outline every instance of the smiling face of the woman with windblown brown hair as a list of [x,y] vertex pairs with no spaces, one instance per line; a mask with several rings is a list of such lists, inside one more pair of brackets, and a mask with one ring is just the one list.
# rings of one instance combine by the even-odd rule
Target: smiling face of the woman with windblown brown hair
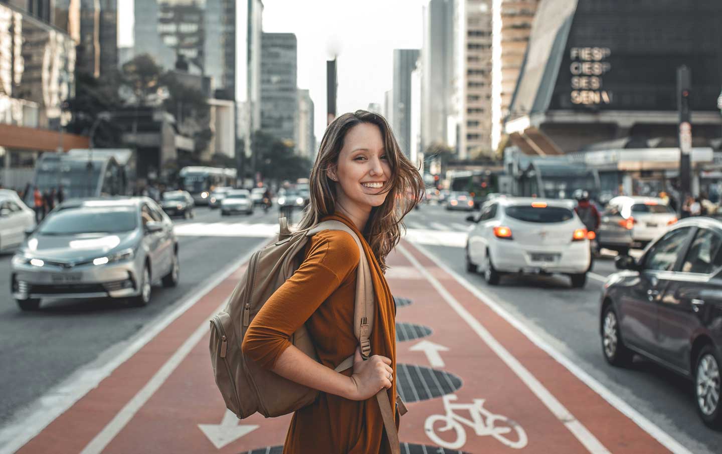
[[364,211],[386,200],[391,166],[378,126],[360,123],[349,129],[336,167],[328,170],[336,180],[336,196],[341,206],[353,204]]

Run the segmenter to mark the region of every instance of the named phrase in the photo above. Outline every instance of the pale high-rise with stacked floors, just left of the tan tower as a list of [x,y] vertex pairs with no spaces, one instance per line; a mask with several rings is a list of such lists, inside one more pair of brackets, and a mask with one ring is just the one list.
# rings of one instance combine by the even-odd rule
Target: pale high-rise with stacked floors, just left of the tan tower
[[492,154],[492,12],[490,0],[463,1],[458,19],[458,158]]

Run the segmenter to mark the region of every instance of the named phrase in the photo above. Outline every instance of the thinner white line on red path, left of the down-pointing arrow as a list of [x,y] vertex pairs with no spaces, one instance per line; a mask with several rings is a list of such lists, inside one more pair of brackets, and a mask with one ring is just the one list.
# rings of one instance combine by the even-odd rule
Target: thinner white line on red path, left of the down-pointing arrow
[[[226,301],[227,299],[224,300],[214,312],[222,310]],[[178,350],[173,353],[173,356],[170,357],[165,364],[163,364],[158,372],[155,372],[155,375],[153,375],[153,377],[148,380],[148,383],[146,383],[144,387],[139,390],[125,406],[123,406],[123,409],[118,411],[118,414],[110,420],[103,430],[93,437],[90,443],[87,444],[80,454],[102,453],[108,446],[108,443],[110,443],[110,441],[113,440],[113,438],[115,438],[121,430],[123,430],[123,427],[126,427],[126,424],[133,419],[133,416],[135,416],[149,398],[151,398],[153,394],[155,394],[155,392],[163,385],[163,383],[165,383],[165,380],[168,380],[168,377],[170,377],[170,374],[172,374],[176,367],[178,367],[178,364],[181,364],[183,359],[186,359],[193,347],[195,347],[196,344],[203,339],[203,336],[205,336],[208,331],[208,320],[203,320],[203,323],[196,328],[196,331],[193,331],[193,334],[191,334],[191,336],[183,342],[183,345],[178,347]]]

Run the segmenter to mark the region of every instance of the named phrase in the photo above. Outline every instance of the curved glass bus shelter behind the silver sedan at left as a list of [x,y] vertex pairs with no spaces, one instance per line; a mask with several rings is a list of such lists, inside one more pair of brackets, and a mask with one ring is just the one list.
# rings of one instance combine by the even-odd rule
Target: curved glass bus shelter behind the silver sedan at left
[[63,188],[64,198],[129,196],[135,181],[131,149],[71,149],[45,152],[35,163],[35,175],[25,204],[33,206],[32,188],[41,193]]

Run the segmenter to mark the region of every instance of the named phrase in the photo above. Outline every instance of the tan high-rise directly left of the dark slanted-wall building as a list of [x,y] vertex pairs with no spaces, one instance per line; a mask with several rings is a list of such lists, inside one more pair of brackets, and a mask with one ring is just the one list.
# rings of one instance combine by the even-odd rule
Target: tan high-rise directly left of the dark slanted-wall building
[[502,138],[504,119],[529,43],[531,24],[540,0],[492,1],[492,149]]

